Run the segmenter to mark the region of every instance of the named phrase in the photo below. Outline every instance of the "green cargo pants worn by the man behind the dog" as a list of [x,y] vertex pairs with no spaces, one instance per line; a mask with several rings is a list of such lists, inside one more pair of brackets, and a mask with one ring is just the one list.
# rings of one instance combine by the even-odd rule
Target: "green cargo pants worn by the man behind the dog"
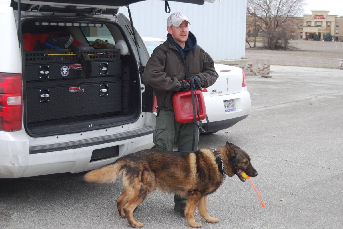
[[[156,117],[156,129],[154,131],[154,143],[157,149],[173,151],[174,144],[178,145],[178,151],[191,151],[193,140],[193,123],[180,124],[175,121],[173,111],[159,111]],[[196,128],[194,149],[198,150],[199,128]],[[175,204],[186,203],[187,199],[174,196]]]

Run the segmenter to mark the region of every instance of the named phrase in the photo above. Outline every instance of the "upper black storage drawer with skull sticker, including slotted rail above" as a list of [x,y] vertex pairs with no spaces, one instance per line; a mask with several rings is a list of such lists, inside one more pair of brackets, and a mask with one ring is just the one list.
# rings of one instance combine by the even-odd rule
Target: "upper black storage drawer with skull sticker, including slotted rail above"
[[[119,49],[81,50],[91,59],[91,77],[121,75]],[[82,66],[70,50],[25,52],[26,81],[84,77]]]

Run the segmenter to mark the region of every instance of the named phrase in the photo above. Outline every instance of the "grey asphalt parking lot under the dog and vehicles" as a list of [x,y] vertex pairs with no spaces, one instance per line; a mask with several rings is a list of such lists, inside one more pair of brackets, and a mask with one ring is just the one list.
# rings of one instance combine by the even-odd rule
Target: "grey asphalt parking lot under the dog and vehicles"
[[[203,228],[341,228],[343,224],[343,70],[271,66],[271,78],[247,76],[250,115],[200,137],[200,147],[232,142],[251,157],[266,205],[237,176],[208,197],[220,219]],[[130,228],[117,211],[123,188],[59,180],[0,180],[0,228]],[[281,198],[283,201],[281,201]],[[144,228],[189,228],[173,195],[153,192],[135,213]]]

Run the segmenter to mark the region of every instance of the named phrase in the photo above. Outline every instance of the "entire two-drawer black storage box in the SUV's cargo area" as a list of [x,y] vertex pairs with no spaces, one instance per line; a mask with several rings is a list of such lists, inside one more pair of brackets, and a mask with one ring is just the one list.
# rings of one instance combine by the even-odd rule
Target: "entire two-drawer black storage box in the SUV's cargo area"
[[27,123],[122,110],[120,50],[81,51],[91,58],[89,79],[69,50],[25,52]]

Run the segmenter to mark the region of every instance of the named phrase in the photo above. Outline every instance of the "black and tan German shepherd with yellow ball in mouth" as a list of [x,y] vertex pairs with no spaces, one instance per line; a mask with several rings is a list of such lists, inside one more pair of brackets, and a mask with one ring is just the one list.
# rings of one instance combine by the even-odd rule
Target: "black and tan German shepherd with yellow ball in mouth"
[[197,206],[206,222],[219,222],[207,213],[206,196],[218,189],[225,174],[229,177],[236,174],[241,181],[245,181],[243,171],[251,177],[258,175],[249,155],[236,145],[226,142],[225,147],[217,148],[217,152],[220,154],[215,157],[214,152],[206,148],[196,152],[142,150],[88,172],[84,181],[111,183],[123,170],[122,184],[125,189],[117,199],[117,206],[120,216],[127,218],[132,227],[143,227],[133,218],[133,211],[151,191],[159,188],[188,198],[185,217],[189,226],[199,228],[202,224],[194,220]]

